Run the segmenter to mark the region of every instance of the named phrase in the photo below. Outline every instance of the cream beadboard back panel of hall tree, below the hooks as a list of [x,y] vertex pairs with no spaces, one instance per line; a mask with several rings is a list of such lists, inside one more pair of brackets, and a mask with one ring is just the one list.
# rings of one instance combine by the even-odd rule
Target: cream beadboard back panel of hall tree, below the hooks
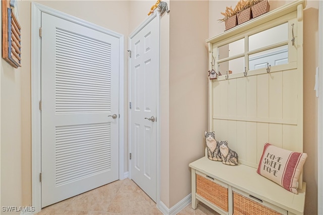
[[297,138],[297,69],[212,82],[212,130],[239,162],[257,167],[263,145],[302,151]]

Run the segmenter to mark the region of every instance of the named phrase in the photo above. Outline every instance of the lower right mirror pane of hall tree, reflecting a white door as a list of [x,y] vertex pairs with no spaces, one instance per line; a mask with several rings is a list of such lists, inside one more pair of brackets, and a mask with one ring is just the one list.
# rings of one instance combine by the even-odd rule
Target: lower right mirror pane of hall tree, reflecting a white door
[[288,64],[288,45],[254,53],[249,56],[249,70]]

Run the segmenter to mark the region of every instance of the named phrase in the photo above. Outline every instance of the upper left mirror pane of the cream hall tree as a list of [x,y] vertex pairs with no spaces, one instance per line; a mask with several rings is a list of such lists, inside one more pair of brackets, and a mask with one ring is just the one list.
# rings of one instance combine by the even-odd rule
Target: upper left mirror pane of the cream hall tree
[[218,48],[219,59],[229,58],[244,52],[244,38]]

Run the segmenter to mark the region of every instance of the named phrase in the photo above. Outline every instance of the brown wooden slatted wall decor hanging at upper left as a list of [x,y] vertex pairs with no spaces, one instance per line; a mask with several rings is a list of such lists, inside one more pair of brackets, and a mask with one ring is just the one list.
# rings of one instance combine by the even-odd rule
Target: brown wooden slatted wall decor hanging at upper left
[[2,1],[2,57],[14,68],[21,67],[21,26],[9,1]]

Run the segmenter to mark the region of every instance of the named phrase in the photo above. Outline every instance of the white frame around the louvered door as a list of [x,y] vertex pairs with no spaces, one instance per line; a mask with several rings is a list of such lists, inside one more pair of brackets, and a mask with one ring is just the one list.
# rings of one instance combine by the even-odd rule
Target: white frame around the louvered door
[[41,111],[39,101],[41,99],[41,39],[39,29],[41,27],[41,13],[46,13],[61,19],[94,29],[96,31],[119,38],[119,180],[124,176],[124,35],[109,29],[73,17],[49,7],[31,3],[31,183],[32,205],[35,212],[41,210]]

